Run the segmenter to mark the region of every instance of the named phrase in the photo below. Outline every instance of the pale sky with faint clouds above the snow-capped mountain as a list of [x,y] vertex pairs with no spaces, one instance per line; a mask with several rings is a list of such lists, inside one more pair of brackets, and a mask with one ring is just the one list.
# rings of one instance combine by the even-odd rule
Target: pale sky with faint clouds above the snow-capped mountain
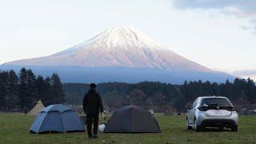
[[134,26],[216,70],[256,69],[248,0],[1,0],[0,63],[54,54],[111,26]]

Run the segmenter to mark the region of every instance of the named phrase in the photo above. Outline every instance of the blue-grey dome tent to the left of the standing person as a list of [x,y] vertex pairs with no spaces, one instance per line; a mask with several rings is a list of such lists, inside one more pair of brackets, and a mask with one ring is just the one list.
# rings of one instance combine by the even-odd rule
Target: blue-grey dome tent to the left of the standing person
[[78,114],[68,106],[50,105],[41,110],[35,118],[31,133],[85,131]]

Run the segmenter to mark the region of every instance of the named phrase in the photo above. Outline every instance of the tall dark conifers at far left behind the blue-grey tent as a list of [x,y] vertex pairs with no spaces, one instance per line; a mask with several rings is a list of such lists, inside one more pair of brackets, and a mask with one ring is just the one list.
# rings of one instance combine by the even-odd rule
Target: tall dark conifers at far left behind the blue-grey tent
[[36,77],[32,70],[25,68],[18,74],[14,70],[0,70],[0,110],[30,110],[39,99],[45,106],[65,102],[58,74],[43,78],[41,75]]

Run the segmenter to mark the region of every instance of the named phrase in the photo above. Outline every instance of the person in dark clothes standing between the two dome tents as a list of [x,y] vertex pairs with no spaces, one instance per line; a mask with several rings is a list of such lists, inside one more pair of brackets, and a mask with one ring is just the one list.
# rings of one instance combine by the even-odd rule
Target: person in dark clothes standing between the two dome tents
[[[98,114],[103,112],[102,98],[95,89],[96,85],[91,83],[90,90],[88,90],[83,98],[88,138],[98,138]],[[94,135],[91,133],[92,124],[94,124]]]

